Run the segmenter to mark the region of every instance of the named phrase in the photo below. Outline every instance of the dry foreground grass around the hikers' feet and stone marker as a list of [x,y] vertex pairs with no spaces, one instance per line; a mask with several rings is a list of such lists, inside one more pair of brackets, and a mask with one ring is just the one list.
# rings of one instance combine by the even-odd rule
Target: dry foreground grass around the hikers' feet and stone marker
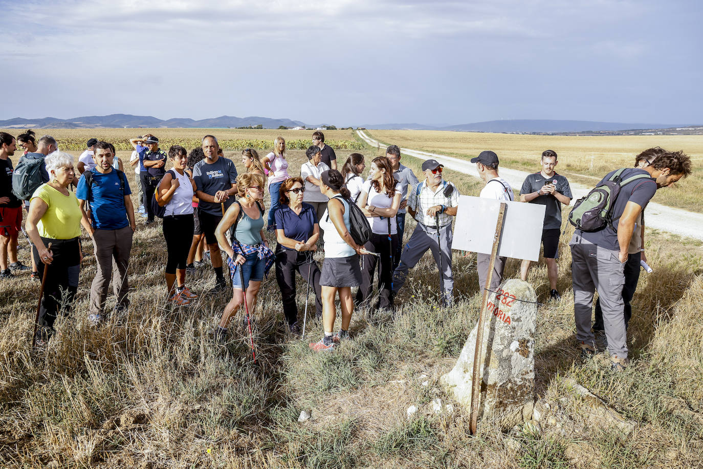
[[[292,158],[299,164],[304,157],[294,152]],[[413,160],[406,163],[418,169]],[[477,193],[475,179],[446,176],[462,193]],[[160,226],[138,220],[132,307],[100,330],[85,320],[93,257],[84,261],[75,312],[58,319],[58,337],[41,352],[28,347],[38,285],[27,276],[0,284],[2,467],[681,468],[703,459],[703,330],[697,321],[703,250],[697,243],[648,234],[655,270],[643,274],[633,303],[633,365],[614,375],[600,360],[576,360],[565,233],[564,299],[541,307],[538,316],[543,432],[503,432],[486,421],[480,435],[470,437],[467,412],[434,416],[427,406],[437,397],[448,400],[438,378],[453,366],[477,317],[475,257],[455,252],[456,306],[435,307],[437,274],[426,256],[401,291],[399,313],[373,321],[355,313],[352,340],[334,354],[309,352],[319,321],[309,321],[306,340],[285,334],[271,275],[255,312],[254,364],[244,328],[233,327],[227,347],[207,336],[226,295],[203,295],[189,308],[165,304]],[[411,231],[408,226],[408,236]],[[25,262],[27,256],[20,250]],[[507,276],[517,276],[518,267],[508,262]],[[542,264],[529,281],[545,300]],[[196,293],[207,290],[212,270],[201,269],[188,283]],[[303,283],[299,279],[301,306]],[[108,308],[112,304],[110,296]],[[636,432],[619,439],[612,428],[587,420],[583,403],[558,379],[567,374],[636,420]],[[409,404],[420,407],[412,420],[405,417]],[[297,423],[304,409],[313,418]],[[591,465],[584,462],[589,453]]]

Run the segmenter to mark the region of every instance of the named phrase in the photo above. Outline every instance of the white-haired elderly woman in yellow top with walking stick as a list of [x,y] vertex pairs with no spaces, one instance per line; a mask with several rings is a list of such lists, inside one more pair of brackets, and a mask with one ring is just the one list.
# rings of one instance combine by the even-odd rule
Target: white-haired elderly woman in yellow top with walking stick
[[40,327],[34,337],[39,345],[51,337],[60,309],[72,308],[83,258],[79,243],[81,224],[86,230],[90,226],[75,194],[68,190],[75,176],[72,155],[57,150],[44,162],[49,182],[32,194],[25,223],[39,275],[43,276],[47,269],[39,307]]

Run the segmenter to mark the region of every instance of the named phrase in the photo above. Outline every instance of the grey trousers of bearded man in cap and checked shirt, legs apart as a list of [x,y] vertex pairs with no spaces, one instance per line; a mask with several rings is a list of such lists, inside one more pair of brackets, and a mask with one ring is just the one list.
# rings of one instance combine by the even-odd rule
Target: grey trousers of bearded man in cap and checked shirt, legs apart
[[[447,304],[451,303],[451,292],[454,288],[454,277],[451,275],[451,241],[453,239],[451,223],[439,228],[439,238],[443,270],[442,283],[445,296],[442,304]],[[440,246],[437,245],[437,229],[418,223],[401,254],[400,263],[393,272],[393,293],[398,293],[398,290],[406,281],[408,269],[412,269],[418,264],[420,257],[423,257],[428,249],[432,251],[434,262],[437,262],[437,269],[439,269],[439,248]]]

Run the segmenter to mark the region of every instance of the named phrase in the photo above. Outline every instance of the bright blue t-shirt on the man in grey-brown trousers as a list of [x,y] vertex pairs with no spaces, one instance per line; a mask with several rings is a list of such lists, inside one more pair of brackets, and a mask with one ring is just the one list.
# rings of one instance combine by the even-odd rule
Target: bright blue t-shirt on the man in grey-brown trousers
[[131,194],[127,178],[122,176],[124,193],[120,189],[120,176],[116,169],[103,174],[90,170],[93,175],[91,200],[88,200],[88,183],[85,173],[78,181],[76,197],[79,200],[88,200],[91,210],[91,224],[98,230],[117,230],[129,224],[127,209],[124,206],[124,195]]

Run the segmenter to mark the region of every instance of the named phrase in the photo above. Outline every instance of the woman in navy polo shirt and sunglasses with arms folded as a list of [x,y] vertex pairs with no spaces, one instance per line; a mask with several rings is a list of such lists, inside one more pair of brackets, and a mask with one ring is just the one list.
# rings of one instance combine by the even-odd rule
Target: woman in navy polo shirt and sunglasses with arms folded
[[295,304],[295,271],[309,279],[315,290],[317,316],[322,316],[320,269],[313,260],[320,238],[315,207],[303,203],[303,180],[288,178],[280,186],[280,208],[276,210],[276,281],[283,297],[283,313],[288,328],[299,334],[298,308]]

